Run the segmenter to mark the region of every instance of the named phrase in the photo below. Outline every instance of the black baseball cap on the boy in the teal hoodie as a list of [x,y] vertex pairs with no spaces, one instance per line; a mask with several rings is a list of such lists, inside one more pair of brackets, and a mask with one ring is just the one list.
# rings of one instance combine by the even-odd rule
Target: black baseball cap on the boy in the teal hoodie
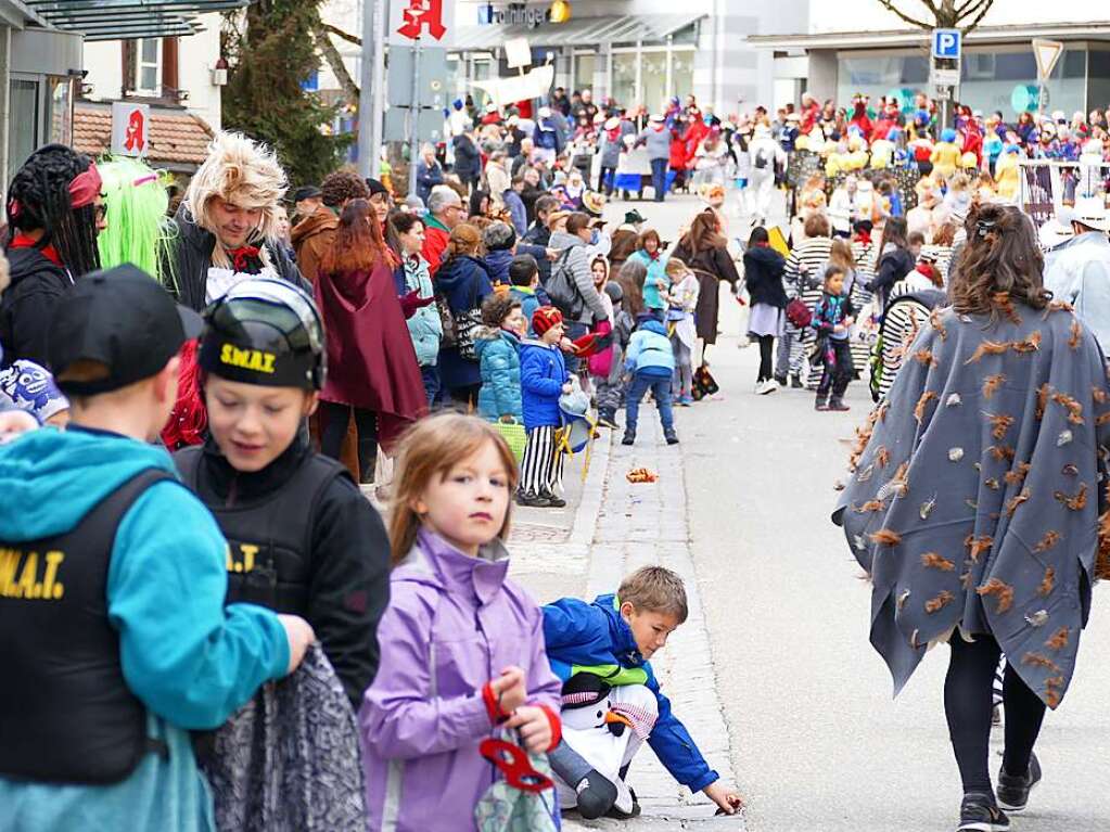
[[[127,263],[92,272],[64,294],[50,322],[48,357],[65,394],[94,396],[157,375],[204,322],[178,306],[165,288]],[[102,378],[67,381],[80,361],[108,367]]]

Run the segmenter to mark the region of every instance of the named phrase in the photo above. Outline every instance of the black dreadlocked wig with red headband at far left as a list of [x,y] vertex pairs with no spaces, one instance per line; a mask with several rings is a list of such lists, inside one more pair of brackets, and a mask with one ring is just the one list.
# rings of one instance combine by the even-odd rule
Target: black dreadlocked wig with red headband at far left
[[16,172],[8,187],[8,225],[13,232],[44,232],[39,248],[52,245],[74,277],[100,268],[97,207],[74,209],[70,183],[92,160],[64,144],[39,148]]

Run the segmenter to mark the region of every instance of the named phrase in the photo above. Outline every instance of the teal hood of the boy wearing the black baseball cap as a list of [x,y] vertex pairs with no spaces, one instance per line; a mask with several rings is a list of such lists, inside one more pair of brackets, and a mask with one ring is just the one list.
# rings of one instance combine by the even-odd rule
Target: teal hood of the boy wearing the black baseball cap
[[104,497],[147,468],[174,476],[163,448],[115,434],[41,428],[0,447],[0,540],[71,531]]

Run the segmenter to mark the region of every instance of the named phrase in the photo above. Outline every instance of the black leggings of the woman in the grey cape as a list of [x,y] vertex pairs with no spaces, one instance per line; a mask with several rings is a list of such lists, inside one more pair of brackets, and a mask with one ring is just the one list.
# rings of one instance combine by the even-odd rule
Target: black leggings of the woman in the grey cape
[[[990,794],[992,687],[1001,651],[990,636],[976,636],[973,642],[968,642],[958,630],[952,633],[949,645],[952,656],[945,678],[945,716],[963,792]],[[1006,709],[1002,765],[1009,774],[1025,774],[1045,719],[1045,703],[1009,663],[1002,683],[1002,702]]]

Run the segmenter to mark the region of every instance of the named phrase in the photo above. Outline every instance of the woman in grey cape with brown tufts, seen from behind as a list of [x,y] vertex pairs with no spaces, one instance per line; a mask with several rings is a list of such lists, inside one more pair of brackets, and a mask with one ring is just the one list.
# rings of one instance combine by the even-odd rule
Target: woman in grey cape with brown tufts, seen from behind
[[[870,641],[906,684],[947,642],[945,712],[963,782],[959,830],[1009,829],[1041,772],[1046,704],[1071,681],[1090,611],[1099,450],[1110,394],[1094,337],[1041,282],[1029,219],[986,205],[950,286],[852,455],[834,515],[872,584]],[[991,683],[1006,752],[988,771]]]

